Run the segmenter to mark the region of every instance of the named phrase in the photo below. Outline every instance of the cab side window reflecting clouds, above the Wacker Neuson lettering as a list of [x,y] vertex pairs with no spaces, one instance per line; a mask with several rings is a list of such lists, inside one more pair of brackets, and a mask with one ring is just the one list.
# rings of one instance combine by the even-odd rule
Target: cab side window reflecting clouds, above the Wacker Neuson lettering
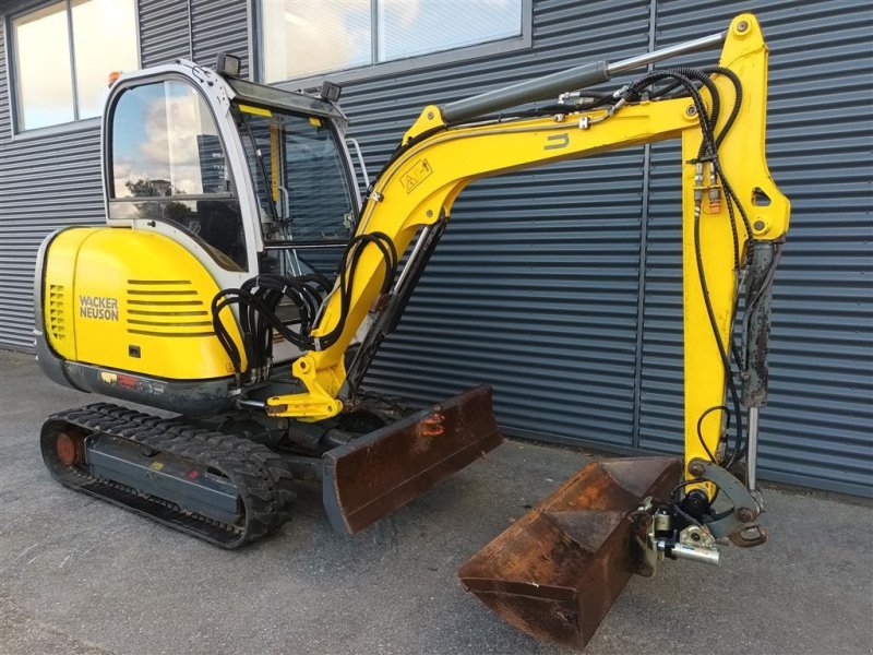
[[186,82],[124,91],[111,117],[111,218],[171,223],[223,267],[247,269],[239,196],[208,105]]

